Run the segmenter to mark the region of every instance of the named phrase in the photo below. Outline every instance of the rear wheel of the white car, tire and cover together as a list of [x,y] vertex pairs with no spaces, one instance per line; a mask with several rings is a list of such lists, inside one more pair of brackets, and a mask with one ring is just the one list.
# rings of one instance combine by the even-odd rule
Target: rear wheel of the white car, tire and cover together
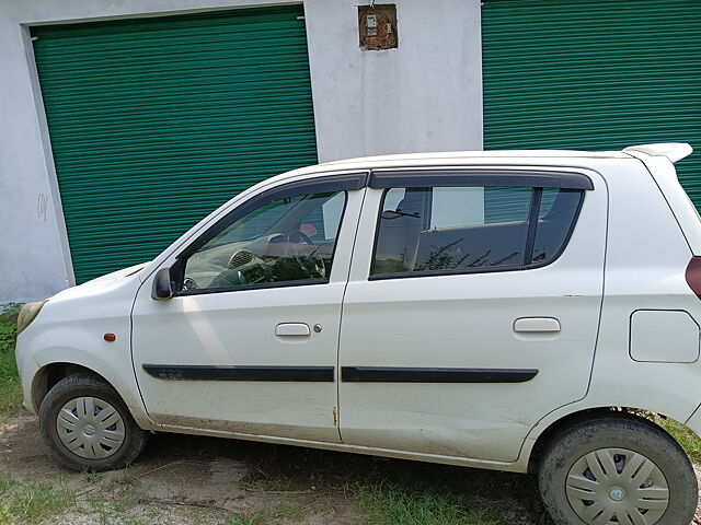
[[[698,503],[697,477],[679,444],[652,422],[625,416],[558,435],[543,452],[538,485],[556,525],[685,525]],[[635,512],[643,518],[633,520]]]

